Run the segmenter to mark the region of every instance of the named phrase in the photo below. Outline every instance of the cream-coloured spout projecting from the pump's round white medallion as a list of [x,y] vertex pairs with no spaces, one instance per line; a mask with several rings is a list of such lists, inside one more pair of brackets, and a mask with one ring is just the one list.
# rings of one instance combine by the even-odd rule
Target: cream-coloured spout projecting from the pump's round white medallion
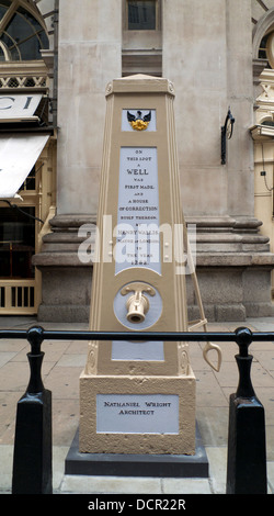
[[152,287],[146,283],[136,282],[124,287],[124,289],[121,291],[121,294],[126,295],[128,292],[134,292],[134,294],[128,298],[126,303],[126,318],[129,323],[142,323],[149,310],[149,301],[147,296],[144,295],[144,292],[148,293],[149,295],[155,295],[156,291],[152,289]]

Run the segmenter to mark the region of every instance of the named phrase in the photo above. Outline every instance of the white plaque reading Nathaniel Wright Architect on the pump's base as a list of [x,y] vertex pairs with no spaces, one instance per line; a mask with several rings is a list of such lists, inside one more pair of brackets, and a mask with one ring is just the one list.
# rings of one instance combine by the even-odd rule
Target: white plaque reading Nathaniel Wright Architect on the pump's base
[[96,433],[179,434],[179,396],[98,394]]

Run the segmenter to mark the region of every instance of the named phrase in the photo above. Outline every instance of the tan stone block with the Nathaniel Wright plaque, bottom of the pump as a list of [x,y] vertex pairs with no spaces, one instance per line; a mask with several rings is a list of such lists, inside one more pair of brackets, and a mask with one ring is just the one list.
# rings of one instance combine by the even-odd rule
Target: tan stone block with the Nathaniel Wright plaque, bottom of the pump
[[80,375],[84,453],[195,453],[196,380],[185,375]]

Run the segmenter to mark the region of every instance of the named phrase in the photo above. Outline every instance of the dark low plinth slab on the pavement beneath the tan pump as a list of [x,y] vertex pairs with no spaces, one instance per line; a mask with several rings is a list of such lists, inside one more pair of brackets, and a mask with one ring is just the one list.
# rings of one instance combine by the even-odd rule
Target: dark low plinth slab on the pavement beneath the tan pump
[[195,455],[81,453],[79,430],[65,462],[65,474],[110,476],[208,478],[209,467],[196,424]]

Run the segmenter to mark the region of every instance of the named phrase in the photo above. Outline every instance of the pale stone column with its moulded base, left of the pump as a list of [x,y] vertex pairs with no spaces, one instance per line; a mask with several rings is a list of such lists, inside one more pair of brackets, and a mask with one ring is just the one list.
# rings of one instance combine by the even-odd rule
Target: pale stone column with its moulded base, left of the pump
[[38,316],[49,321],[88,318],[92,262],[79,261],[78,231],[94,227],[105,85],[122,66],[122,0],[83,0],[78,8],[59,2],[57,215],[34,258],[43,276]]

